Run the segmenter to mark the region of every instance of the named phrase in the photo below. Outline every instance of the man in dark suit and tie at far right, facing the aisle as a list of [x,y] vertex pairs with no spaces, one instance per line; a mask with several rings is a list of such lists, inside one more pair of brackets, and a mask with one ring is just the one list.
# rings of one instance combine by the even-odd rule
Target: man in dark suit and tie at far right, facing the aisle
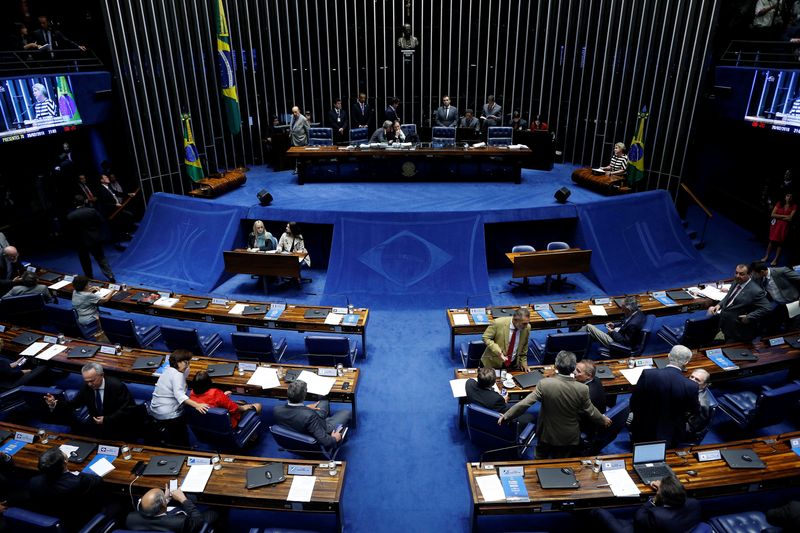
[[719,314],[719,329],[725,342],[750,342],[758,333],[758,321],[769,314],[767,293],[750,279],[748,265],[736,265],[734,284],[717,305],[708,308]]

